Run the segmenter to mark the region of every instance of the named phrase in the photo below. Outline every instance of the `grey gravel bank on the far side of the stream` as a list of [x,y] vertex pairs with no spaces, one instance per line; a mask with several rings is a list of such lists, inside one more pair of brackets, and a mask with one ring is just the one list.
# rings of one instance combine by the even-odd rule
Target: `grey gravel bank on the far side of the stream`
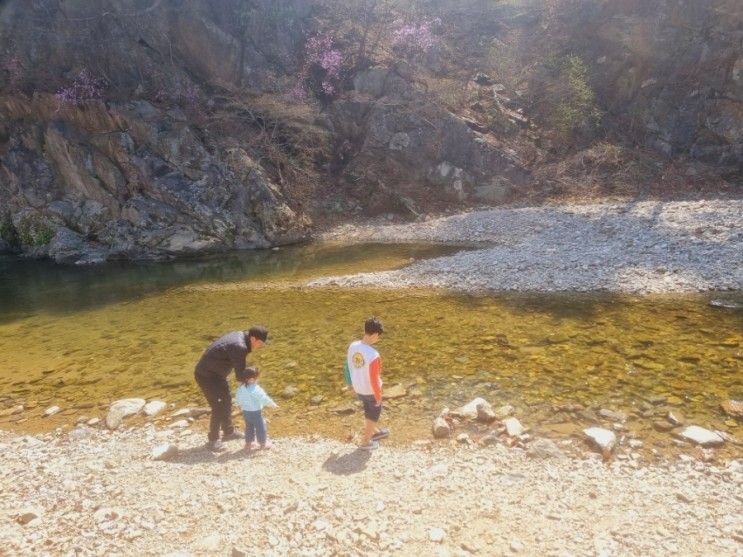
[[328,241],[480,249],[312,286],[698,292],[743,289],[743,200],[493,209],[405,225],[346,225]]

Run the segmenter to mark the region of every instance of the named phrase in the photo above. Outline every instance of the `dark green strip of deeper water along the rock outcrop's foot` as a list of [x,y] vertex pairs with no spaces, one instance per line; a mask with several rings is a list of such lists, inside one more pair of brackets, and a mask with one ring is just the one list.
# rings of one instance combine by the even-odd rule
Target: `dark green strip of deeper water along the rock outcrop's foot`
[[365,269],[389,268],[410,258],[425,259],[455,249],[419,244],[315,244],[171,262],[111,262],[99,266],[57,265],[0,256],[0,322],[40,312],[91,309],[186,284],[310,277],[320,269],[357,271],[361,263]]

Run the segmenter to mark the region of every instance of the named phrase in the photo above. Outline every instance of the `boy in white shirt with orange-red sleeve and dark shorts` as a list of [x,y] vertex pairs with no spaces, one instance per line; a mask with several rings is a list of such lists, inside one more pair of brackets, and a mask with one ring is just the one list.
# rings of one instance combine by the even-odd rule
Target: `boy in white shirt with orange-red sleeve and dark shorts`
[[363,338],[352,342],[346,355],[346,385],[353,386],[364,405],[364,436],[359,448],[366,451],[379,448],[379,440],[390,434],[377,427],[382,413],[382,359],[373,345],[383,332],[382,322],[370,317],[364,322]]

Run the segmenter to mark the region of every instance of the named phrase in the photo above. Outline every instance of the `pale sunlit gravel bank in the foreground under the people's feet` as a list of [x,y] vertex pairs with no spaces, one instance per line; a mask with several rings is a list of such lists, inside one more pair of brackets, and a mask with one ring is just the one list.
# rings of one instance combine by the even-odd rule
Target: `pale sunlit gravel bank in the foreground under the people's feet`
[[[743,554],[739,460],[635,468],[298,438],[216,456],[151,426],[77,431],[0,433],[3,555]],[[151,460],[163,442],[180,452]]]

